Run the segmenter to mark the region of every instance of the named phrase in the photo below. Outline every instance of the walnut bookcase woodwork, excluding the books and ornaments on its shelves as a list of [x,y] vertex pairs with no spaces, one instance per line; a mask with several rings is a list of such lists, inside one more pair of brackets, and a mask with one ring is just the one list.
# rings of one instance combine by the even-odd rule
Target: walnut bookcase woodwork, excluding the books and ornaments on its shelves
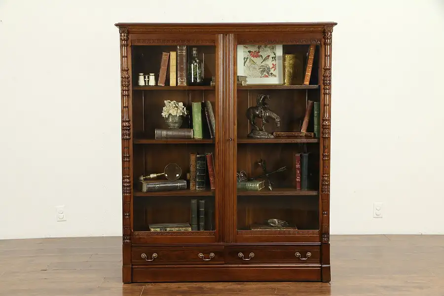
[[[330,124],[332,32],[336,23],[145,24],[119,23],[122,121],[124,283],[178,281],[323,281],[330,274]],[[283,53],[316,45],[309,85],[238,85],[237,45],[279,44]],[[162,52],[197,47],[204,78],[215,84],[139,86],[139,73],[160,69]],[[169,71],[169,70],[168,70]],[[307,102],[319,102],[317,137],[248,138],[245,111],[259,94],[281,117],[268,132],[299,132]],[[166,128],[164,100],[210,101],[215,137],[155,139]],[[192,116],[190,116],[192,117]],[[191,118],[192,119],[192,118]],[[313,117],[310,118],[310,122]],[[192,128],[185,117],[182,128]],[[309,125],[308,131],[313,129]],[[313,130],[311,130],[313,131]],[[215,189],[142,192],[139,176],[161,173],[168,163],[189,173],[191,152],[213,153]],[[308,152],[308,188],[296,189],[295,154]],[[237,189],[236,172],[270,170],[273,190]],[[207,176],[208,177],[208,176]],[[187,181],[188,182],[188,181]],[[190,201],[205,201],[209,223],[201,231],[150,231],[150,223],[190,222]],[[207,209],[207,208],[206,208]],[[205,216],[205,219],[206,216]],[[287,230],[254,228],[267,219],[291,222]]]

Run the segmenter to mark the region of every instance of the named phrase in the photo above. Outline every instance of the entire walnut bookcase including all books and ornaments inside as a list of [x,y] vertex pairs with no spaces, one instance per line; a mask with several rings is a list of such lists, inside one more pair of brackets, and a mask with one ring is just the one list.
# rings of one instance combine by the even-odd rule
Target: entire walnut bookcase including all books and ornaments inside
[[123,283],[330,282],[335,25],[115,24]]

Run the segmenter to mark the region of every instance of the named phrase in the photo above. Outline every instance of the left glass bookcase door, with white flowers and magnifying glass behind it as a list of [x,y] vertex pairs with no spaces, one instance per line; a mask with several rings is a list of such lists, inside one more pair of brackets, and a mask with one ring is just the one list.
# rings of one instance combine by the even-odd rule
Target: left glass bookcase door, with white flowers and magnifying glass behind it
[[131,46],[136,243],[216,241],[216,44],[202,38]]

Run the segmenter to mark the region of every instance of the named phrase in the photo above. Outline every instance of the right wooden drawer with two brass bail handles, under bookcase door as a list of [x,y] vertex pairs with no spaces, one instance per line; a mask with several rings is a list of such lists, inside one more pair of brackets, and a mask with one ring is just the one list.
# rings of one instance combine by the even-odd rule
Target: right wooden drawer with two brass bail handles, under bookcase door
[[232,264],[320,264],[320,246],[227,246],[225,262]]

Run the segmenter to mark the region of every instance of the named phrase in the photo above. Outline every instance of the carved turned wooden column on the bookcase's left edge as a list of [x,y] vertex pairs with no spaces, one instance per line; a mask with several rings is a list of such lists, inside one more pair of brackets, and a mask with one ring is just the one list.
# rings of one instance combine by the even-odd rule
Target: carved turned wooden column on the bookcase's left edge
[[120,32],[120,85],[122,105],[122,194],[123,194],[123,243],[131,243],[131,120],[129,116],[130,75],[128,68],[128,28]]

